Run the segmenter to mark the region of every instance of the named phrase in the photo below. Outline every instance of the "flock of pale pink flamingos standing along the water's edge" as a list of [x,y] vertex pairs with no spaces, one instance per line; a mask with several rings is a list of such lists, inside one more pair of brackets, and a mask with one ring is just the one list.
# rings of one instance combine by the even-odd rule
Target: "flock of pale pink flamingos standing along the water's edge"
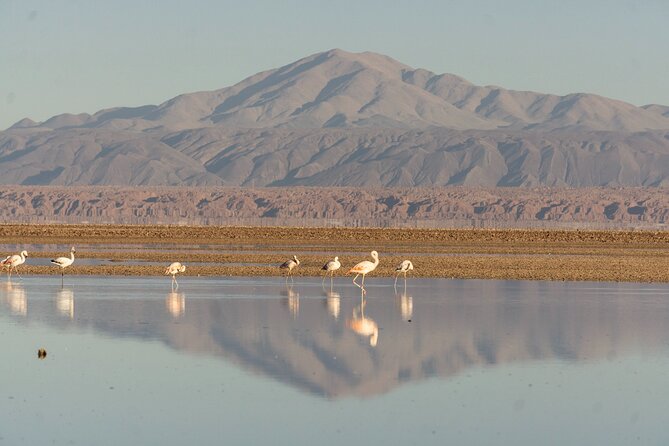
[[[74,263],[74,254],[76,253],[76,250],[74,249],[74,246],[70,249],[70,256],[69,257],[58,257],[55,259],[51,259],[51,263],[58,266],[60,268],[60,275],[61,275],[61,281],[65,275],[65,268],[68,266],[72,265]],[[365,290],[365,276],[372,271],[376,269],[377,266],[379,266],[379,253],[376,251],[372,251],[370,253],[373,261],[369,260],[363,260],[362,262],[357,263],[353,268],[351,268],[348,271],[348,274],[355,274],[353,277],[353,284],[360,288],[363,293],[366,293]],[[21,274],[19,273],[18,267],[20,265],[23,265],[26,261],[26,258],[28,257],[28,252],[26,251],[21,251],[19,254],[13,254],[7,256],[3,261],[0,262],[0,265],[3,268],[7,268],[7,276],[11,279],[12,277],[12,272],[15,272],[18,274],[19,277],[21,277]],[[292,258],[286,260],[284,263],[279,265],[279,268],[282,270],[286,270],[286,281],[288,279],[293,281],[293,271],[295,268],[300,266],[300,260],[297,258],[296,255],[294,255]],[[334,278],[334,274],[336,271],[338,271],[341,268],[341,262],[339,261],[339,257],[335,257],[333,260],[330,260],[329,262],[325,263],[323,267],[321,268],[322,271],[325,271],[323,274],[323,281],[322,283],[325,283],[325,278],[330,275],[330,283],[332,283],[332,280]],[[407,273],[409,271],[412,271],[414,269],[413,263],[411,263],[411,260],[404,260],[402,263],[400,263],[396,268],[395,268],[395,286],[397,286],[397,279],[400,275],[404,275],[404,283],[406,285],[406,278],[407,278]],[[186,265],[182,264],[181,262],[173,262],[171,263],[167,269],[165,270],[165,275],[172,276],[172,287],[179,287],[179,282],[177,282],[176,275],[179,273],[183,273],[186,271]],[[362,276],[362,280],[360,283],[356,282],[356,279],[358,277]]]

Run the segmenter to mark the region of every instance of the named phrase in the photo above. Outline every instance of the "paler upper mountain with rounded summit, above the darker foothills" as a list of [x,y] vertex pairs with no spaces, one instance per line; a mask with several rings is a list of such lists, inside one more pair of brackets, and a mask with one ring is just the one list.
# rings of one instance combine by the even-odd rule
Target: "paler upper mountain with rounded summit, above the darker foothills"
[[[25,121],[25,120],[24,120]],[[477,86],[374,52],[332,48],[215,91],[159,106],[62,114],[13,128],[103,127],[141,131],[225,128],[495,128],[645,131],[669,129],[662,106],[635,107],[596,95],[565,96]]]

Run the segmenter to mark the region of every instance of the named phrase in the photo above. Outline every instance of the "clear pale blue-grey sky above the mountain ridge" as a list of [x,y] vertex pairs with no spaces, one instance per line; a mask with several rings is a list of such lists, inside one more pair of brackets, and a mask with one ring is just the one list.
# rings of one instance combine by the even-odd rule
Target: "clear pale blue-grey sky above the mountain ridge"
[[666,0],[0,0],[0,129],[232,85],[331,48],[669,105]]

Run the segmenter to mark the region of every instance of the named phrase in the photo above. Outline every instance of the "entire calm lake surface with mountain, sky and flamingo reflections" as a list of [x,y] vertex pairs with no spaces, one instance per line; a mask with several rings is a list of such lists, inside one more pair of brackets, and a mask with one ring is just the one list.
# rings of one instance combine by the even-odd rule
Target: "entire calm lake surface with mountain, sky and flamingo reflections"
[[669,286],[349,280],[2,279],[0,444],[669,443]]

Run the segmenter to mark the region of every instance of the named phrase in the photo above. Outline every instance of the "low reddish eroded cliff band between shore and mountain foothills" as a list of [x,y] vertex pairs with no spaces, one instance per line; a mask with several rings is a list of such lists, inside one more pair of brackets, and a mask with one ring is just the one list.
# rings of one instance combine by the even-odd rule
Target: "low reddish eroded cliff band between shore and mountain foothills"
[[657,226],[662,188],[129,188],[6,186],[5,222],[322,226]]

